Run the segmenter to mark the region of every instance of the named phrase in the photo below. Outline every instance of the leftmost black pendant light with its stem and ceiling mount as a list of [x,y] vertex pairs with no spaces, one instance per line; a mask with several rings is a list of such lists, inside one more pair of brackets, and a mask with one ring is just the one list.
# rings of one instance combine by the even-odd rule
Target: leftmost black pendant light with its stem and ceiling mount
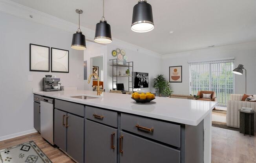
[[76,9],[75,12],[79,14],[79,27],[77,29],[77,32],[73,34],[71,48],[76,50],[85,50],[85,36],[82,34],[82,31],[80,29],[80,14],[82,14],[83,11],[80,9]]

